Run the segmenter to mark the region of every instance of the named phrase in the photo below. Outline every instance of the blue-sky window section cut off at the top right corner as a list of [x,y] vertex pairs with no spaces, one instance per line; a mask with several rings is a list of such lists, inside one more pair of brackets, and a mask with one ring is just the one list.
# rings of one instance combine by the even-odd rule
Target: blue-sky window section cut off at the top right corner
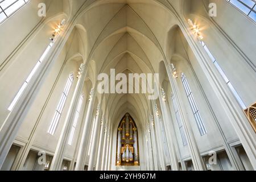
[[236,6],[243,13],[256,22],[256,1],[255,0],[226,0]]

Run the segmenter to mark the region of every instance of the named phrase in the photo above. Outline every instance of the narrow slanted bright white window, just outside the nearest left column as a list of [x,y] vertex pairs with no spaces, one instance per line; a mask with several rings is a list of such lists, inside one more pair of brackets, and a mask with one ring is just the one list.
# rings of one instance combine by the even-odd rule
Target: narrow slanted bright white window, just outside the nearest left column
[[49,43],[49,45],[46,48],[46,50],[44,51],[43,55],[40,57],[40,59],[38,60],[38,62],[35,65],[35,67],[30,72],[30,75],[28,75],[27,79],[24,81],[23,85],[21,86],[21,88],[19,89],[18,93],[14,97],[14,100],[11,102],[10,106],[8,107],[9,111],[13,110],[13,108],[16,105],[16,103],[18,102],[20,96],[22,96],[24,90],[27,88],[28,83],[30,82],[32,77],[35,75],[36,71],[38,71],[40,65],[43,63],[44,58],[46,57],[47,53],[50,51],[52,45],[53,45],[53,42]]

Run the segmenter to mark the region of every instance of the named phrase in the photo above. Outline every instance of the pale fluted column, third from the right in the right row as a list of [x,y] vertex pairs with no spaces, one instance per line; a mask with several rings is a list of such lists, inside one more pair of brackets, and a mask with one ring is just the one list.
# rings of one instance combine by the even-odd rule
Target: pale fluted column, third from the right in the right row
[[[162,117],[163,117],[163,123],[164,123],[164,130],[166,131],[166,138],[167,138],[167,144],[168,144],[168,150],[170,153],[170,160],[171,160],[171,168],[172,171],[179,171],[179,162],[177,160],[177,155],[176,155],[176,151],[175,151],[175,144],[174,144],[174,139],[171,135],[171,133],[174,133],[175,131],[172,130],[170,131],[170,127],[168,127],[169,125],[171,125],[171,118],[170,118],[170,113],[167,111],[166,109],[166,102],[167,102],[167,98],[166,98],[166,93],[164,92],[163,88],[161,89],[161,91],[159,91],[158,89],[158,93],[159,93],[159,97],[162,95],[162,98],[159,98],[159,102],[160,102],[160,106],[162,109]],[[169,122],[168,122],[169,121]],[[172,126],[173,129],[174,126]]]

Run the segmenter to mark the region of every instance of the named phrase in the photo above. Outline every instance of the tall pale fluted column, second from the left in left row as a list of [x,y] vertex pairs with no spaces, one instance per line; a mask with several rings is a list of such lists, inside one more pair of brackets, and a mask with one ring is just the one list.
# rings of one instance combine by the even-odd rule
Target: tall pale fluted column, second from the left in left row
[[56,151],[50,167],[51,171],[59,171],[61,169],[65,148],[67,147],[69,134],[71,133],[73,119],[75,119],[76,107],[82,93],[82,88],[84,86],[84,79],[86,76],[86,69],[84,64],[81,65],[80,70],[82,75],[81,77],[79,76],[79,81],[77,82],[75,93],[73,94],[67,117],[65,118],[65,122],[61,130],[59,142],[57,143]]

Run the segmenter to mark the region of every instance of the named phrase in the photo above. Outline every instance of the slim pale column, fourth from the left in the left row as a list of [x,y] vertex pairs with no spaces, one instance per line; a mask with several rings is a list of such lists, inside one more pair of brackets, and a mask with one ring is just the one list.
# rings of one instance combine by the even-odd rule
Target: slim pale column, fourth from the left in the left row
[[96,111],[96,119],[95,119],[95,124],[94,124],[94,130],[92,131],[93,137],[92,137],[92,143],[90,147],[90,158],[89,158],[89,165],[88,165],[88,171],[92,171],[94,167],[94,151],[96,147],[96,140],[97,140],[97,131],[98,131],[98,126],[100,126],[100,113],[101,113],[101,104],[98,104],[97,106],[97,111]]

